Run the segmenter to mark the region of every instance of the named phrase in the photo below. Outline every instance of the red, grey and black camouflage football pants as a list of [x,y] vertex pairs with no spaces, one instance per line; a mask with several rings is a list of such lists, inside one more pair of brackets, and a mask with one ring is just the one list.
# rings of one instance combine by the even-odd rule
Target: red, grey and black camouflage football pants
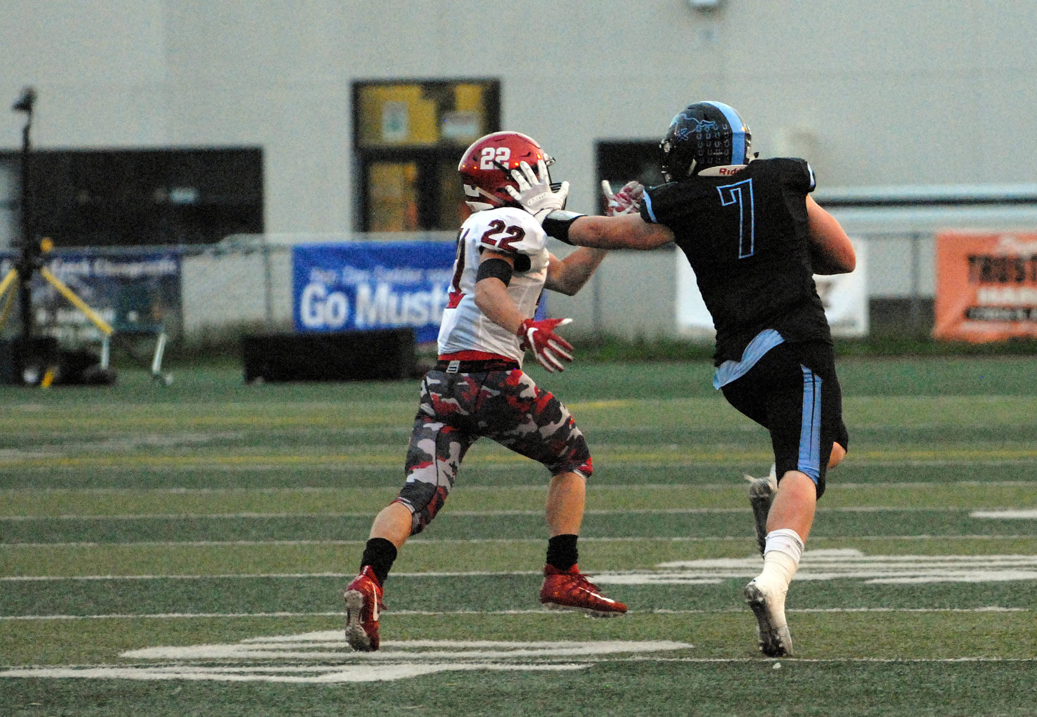
[[412,535],[443,507],[465,453],[482,436],[542,463],[552,475],[590,477],[590,450],[571,414],[521,369],[431,370],[421,383],[407,450],[407,482],[394,501],[410,508]]

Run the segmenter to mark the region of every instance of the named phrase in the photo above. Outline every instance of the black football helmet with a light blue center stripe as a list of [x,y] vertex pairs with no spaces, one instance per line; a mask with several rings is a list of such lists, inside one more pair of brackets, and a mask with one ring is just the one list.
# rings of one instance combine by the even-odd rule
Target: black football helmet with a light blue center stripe
[[706,167],[747,164],[751,146],[749,128],[733,107],[697,102],[670,122],[658,144],[658,168],[667,182],[677,182]]

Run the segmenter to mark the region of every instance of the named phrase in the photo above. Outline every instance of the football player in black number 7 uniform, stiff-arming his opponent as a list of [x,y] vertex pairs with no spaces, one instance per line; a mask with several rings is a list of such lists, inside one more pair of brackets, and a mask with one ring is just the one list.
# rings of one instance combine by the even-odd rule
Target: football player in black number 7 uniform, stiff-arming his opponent
[[[749,128],[734,109],[695,103],[673,118],[660,143],[666,184],[641,197],[628,185],[610,198],[610,206],[640,204],[640,212],[552,212],[543,227],[563,242],[602,249],[675,242],[688,257],[717,328],[713,386],[770,433],[777,492],[769,502],[766,480],[757,479],[764,489],[758,521],[765,524],[757,527],[763,571],[745,592],[760,651],[780,657],[792,654],[785,594],[825,470],[848,447],[832,335],[813,275],[851,272],[857,258],[839,223],[810,197],[810,165],[755,159],[750,147]],[[526,194],[542,201],[546,184],[522,169]]]

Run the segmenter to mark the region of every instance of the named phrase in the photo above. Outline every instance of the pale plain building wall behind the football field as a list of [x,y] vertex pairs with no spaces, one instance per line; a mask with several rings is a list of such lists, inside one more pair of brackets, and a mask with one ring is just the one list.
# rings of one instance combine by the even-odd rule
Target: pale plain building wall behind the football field
[[[764,156],[809,149],[822,187],[1032,183],[1032,28],[1029,0],[20,0],[0,98],[36,87],[36,146],[259,144],[268,230],[347,231],[358,79],[500,78],[574,208],[594,140],[658,137],[697,99]],[[21,126],[0,112],[0,146]]]

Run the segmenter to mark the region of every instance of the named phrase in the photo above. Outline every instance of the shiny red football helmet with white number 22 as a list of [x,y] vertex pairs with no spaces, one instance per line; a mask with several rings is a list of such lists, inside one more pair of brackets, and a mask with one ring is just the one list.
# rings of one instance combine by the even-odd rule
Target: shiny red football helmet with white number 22
[[504,189],[518,188],[511,170],[517,169],[521,162],[536,169],[540,160],[549,165],[555,161],[535,139],[521,132],[495,132],[475,140],[457,164],[468,205],[473,212],[515,205]]

